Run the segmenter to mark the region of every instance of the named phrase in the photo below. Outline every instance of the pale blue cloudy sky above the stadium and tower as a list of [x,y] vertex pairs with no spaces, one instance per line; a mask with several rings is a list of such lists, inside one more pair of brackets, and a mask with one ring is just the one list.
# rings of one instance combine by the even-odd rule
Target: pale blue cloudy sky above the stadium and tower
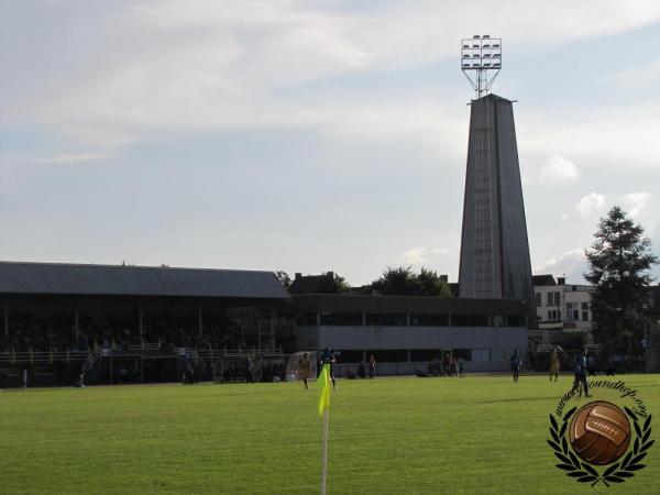
[[659,254],[660,2],[0,0],[0,260],[455,280],[480,33],[534,272]]

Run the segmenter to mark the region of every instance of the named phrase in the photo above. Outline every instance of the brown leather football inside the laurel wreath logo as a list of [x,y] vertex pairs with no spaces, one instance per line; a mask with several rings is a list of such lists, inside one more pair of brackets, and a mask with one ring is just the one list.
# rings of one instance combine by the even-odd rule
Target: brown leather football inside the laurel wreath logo
[[595,465],[609,464],[628,450],[630,422],[614,404],[590,403],[573,417],[569,438],[582,460]]

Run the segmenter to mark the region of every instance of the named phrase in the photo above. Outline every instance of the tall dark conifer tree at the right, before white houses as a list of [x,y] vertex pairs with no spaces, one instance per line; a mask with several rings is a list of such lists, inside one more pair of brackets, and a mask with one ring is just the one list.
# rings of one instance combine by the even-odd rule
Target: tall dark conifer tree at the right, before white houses
[[644,229],[615,206],[602,218],[591,251],[585,251],[588,272],[584,278],[595,286],[592,315],[596,342],[607,354],[640,355],[649,270],[658,263],[642,237]]

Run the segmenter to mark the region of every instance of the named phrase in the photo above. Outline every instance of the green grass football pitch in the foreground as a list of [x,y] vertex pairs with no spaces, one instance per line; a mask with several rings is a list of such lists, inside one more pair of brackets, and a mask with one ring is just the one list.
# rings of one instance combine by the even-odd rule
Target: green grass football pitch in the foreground
[[[660,417],[659,375],[622,380]],[[658,446],[645,470],[610,488],[554,468],[548,415],[570,384],[340,381],[328,492],[660,493]],[[318,391],[292,383],[2,391],[0,492],[316,493],[317,400]]]

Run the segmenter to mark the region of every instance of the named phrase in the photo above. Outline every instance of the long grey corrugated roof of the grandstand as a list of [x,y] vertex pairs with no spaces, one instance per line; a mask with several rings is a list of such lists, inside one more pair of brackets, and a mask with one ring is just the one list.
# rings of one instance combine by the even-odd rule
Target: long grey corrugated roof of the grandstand
[[273,272],[0,262],[0,294],[288,299]]

